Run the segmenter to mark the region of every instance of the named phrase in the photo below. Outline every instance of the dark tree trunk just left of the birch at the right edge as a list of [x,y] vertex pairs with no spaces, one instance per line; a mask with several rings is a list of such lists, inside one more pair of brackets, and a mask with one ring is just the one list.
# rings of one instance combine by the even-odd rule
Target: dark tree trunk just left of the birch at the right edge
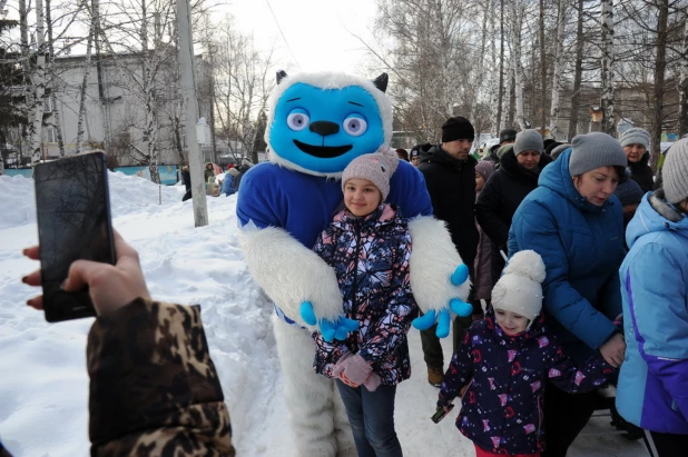
[[657,170],[661,142],[662,108],[665,101],[665,69],[667,66],[667,24],[669,19],[669,0],[657,0],[657,52],[655,56],[655,90],[652,107],[652,131],[650,132],[650,167]]

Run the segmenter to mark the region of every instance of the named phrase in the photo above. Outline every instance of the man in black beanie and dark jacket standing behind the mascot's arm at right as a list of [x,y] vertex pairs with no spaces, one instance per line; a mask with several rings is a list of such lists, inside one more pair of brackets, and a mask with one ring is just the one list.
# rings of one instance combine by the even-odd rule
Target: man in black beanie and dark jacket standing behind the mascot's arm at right
[[[419,170],[425,177],[435,218],[446,222],[452,241],[473,278],[473,261],[478,250],[478,229],[474,221],[475,159],[469,155],[475,139],[471,122],[462,117],[449,118],[442,125],[442,145],[430,149]],[[473,292],[469,297],[473,298]],[[482,312],[480,305],[474,312]],[[453,322],[454,351],[461,345],[471,318],[458,317]],[[421,331],[427,381],[440,387],[444,375],[444,356],[436,327]]]

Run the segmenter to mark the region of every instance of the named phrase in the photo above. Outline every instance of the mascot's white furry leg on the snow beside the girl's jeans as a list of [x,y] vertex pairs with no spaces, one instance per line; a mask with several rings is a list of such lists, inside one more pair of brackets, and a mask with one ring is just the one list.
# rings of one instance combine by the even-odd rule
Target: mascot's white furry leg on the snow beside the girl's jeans
[[315,345],[306,330],[277,317],[273,318],[273,322],[284,374],[284,399],[289,409],[296,446],[295,455],[335,457],[338,449],[333,399],[338,394],[334,381],[313,371]]

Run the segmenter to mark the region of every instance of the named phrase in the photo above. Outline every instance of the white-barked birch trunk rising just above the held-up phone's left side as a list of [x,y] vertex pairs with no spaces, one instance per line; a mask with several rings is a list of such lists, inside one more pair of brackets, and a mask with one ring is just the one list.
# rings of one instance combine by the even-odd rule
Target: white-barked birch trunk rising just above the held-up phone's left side
[[43,135],[43,98],[46,93],[46,53],[43,50],[43,0],[36,0],[36,71],[32,74],[31,86],[36,93],[31,107],[31,161],[38,162],[42,157]]

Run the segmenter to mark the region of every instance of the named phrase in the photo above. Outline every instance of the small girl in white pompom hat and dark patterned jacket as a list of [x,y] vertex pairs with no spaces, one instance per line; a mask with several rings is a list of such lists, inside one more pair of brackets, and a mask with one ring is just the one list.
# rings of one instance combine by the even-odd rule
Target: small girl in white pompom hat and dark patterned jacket
[[438,410],[468,386],[456,427],[478,457],[535,457],[544,449],[546,381],[571,393],[593,390],[615,369],[601,355],[577,368],[547,334],[542,309],[546,270],[532,250],[517,252],[492,289],[488,317],[474,322],[444,375]]

